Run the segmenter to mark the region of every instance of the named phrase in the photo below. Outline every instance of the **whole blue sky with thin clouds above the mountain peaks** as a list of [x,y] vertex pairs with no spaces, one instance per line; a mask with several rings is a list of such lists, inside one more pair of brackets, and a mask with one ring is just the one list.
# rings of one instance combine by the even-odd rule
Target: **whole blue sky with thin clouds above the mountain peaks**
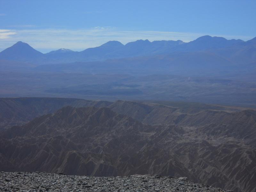
[[256,0],[0,0],[0,51],[23,41],[43,53],[110,40],[256,36]]

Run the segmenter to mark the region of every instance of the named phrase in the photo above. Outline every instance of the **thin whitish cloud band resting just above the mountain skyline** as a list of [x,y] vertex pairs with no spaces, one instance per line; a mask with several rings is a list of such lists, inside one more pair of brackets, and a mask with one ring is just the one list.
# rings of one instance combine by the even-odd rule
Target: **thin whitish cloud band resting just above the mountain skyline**
[[[41,52],[67,48],[82,51],[86,48],[100,46],[110,40],[126,44],[138,39],[155,40],[182,40],[189,42],[204,35],[200,33],[182,33],[168,31],[132,31],[119,30],[113,27],[94,27],[89,29],[0,29],[0,51],[12,46],[18,41],[28,43]],[[211,35],[223,36],[223,35]],[[249,40],[250,36],[223,36],[227,39]]]

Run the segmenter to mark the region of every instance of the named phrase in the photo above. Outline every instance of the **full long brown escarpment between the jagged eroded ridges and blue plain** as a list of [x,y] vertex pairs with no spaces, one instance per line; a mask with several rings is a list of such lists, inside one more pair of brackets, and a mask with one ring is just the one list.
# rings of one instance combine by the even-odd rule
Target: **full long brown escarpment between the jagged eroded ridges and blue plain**
[[171,104],[175,107],[122,100],[109,102],[67,98],[0,98],[0,129],[28,123],[35,117],[54,113],[65,106],[109,107],[117,113],[131,116],[148,124],[170,124],[177,118],[179,120],[182,114],[194,114],[209,109],[241,111],[241,109],[232,107],[199,103],[171,102]]

